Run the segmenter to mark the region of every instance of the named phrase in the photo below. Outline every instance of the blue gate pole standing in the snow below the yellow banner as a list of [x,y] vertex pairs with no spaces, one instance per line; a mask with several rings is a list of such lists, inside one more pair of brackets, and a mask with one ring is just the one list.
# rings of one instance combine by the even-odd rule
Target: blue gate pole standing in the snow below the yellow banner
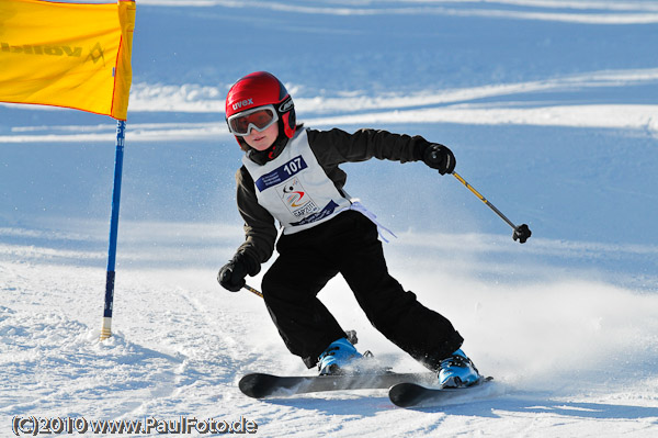
[[123,151],[126,138],[126,122],[116,121],[116,156],[114,159],[114,189],[112,192],[112,217],[110,220],[110,248],[107,250],[107,277],[105,280],[105,307],[101,340],[112,336],[112,306],[114,303],[114,277],[116,266],[116,238],[118,235],[118,205],[121,202],[121,177],[123,173]]

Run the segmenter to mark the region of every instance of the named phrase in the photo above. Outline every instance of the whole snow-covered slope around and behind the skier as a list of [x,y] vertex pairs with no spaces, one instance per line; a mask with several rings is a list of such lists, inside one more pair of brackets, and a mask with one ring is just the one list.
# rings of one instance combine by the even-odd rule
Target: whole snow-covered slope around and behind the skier
[[[0,105],[0,436],[14,416],[258,424],[262,437],[658,436],[658,5],[640,0],[138,1],[114,301],[101,327],[114,121]],[[262,301],[220,289],[242,240],[224,98],[269,70],[308,125],[420,134],[533,237],[419,164],[344,166],[398,235],[389,269],[496,377],[478,400],[254,401],[313,373]],[[260,285],[260,277],[250,279]],[[342,279],[321,293],[400,371]]]

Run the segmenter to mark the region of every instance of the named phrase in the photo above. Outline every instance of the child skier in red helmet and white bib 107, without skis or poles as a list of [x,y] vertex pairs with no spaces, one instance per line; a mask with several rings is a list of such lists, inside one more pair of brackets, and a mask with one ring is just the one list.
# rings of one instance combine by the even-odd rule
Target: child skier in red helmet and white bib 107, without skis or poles
[[[452,151],[420,136],[385,131],[304,128],[296,124],[285,87],[264,71],[231,87],[226,120],[245,150],[236,181],[246,242],[219,270],[219,283],[238,292],[276,247],[279,258],[262,280],[265,305],[286,347],[307,368],[349,373],[362,358],[317,299],[341,273],[374,327],[435,371],[442,386],[476,383],[479,374],[461,350],[462,336],[388,273],[377,224],[343,191],[347,175],[339,168],[375,157],[422,160],[445,175],[455,167]],[[275,221],[283,227],[277,242]]]

